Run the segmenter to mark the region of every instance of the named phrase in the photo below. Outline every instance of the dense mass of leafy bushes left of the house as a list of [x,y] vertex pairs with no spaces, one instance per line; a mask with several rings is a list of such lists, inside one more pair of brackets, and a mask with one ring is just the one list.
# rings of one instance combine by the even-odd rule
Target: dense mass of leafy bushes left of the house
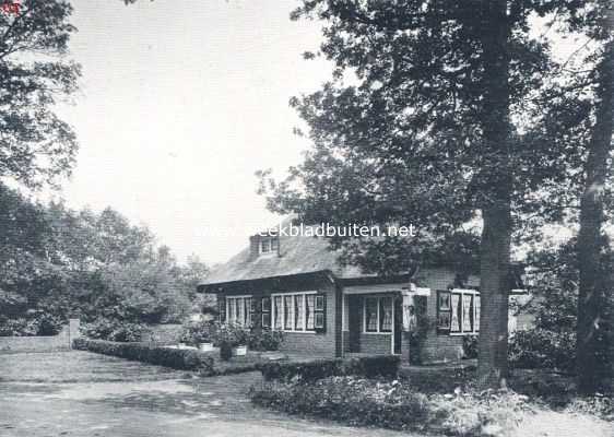
[[[192,310],[193,284],[206,265],[196,257],[179,264],[146,227],[111,209],[94,213],[34,203],[3,185],[0,204],[2,332],[48,330],[37,321],[40,314],[58,322],[80,317],[103,331],[119,322],[179,321]],[[131,339],[131,331],[117,335]]]

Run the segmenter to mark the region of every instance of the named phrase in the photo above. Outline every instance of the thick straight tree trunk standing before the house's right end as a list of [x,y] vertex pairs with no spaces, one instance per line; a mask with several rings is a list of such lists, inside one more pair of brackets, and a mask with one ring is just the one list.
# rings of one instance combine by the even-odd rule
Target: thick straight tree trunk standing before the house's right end
[[483,2],[484,156],[481,167],[484,228],[481,243],[479,383],[505,387],[511,240],[509,23],[507,1]]

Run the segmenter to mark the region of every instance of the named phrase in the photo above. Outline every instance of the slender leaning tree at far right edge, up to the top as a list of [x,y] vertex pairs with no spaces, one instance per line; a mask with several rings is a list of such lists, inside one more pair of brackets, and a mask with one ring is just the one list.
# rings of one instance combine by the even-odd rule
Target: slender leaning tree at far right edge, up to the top
[[[609,2],[610,3],[610,2]],[[607,358],[614,341],[614,320],[607,320],[612,295],[612,268],[604,223],[606,199],[612,196],[612,151],[614,132],[614,5],[603,4],[602,13],[589,27],[591,37],[601,39],[595,69],[593,126],[587,144],[583,191],[580,199],[578,259],[580,295],[578,299],[577,364],[579,388],[595,392],[602,379],[612,375]],[[607,5],[607,7],[605,7]],[[609,332],[611,331],[611,332]],[[610,368],[607,368],[610,366]]]

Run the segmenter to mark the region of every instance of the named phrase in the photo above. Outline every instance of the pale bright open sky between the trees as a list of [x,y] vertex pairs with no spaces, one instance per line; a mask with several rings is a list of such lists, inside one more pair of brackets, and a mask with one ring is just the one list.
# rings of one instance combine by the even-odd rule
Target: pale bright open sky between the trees
[[[73,0],[70,43],[80,92],[59,108],[80,142],[62,184],[74,209],[111,206],[147,225],[180,261],[223,262],[280,217],[255,172],[283,175],[307,140],[293,95],[330,76],[302,54],[317,23],[292,22],[288,0]],[[231,229],[217,232],[217,229]]]

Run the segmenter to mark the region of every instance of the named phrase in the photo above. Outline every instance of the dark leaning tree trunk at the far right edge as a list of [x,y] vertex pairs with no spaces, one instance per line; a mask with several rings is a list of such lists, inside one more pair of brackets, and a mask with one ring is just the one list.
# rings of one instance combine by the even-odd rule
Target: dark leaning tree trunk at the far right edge
[[[607,25],[613,29],[614,12],[610,11]],[[607,179],[607,157],[612,152],[614,125],[614,43],[609,42],[598,67],[599,88],[595,102],[597,117],[586,164],[585,191],[580,200],[580,232],[578,257],[580,293],[578,298],[577,368],[578,388],[594,393],[600,379],[607,374],[607,344],[603,323],[606,310],[609,269],[603,265],[602,249],[606,238],[604,222],[604,187]]]

